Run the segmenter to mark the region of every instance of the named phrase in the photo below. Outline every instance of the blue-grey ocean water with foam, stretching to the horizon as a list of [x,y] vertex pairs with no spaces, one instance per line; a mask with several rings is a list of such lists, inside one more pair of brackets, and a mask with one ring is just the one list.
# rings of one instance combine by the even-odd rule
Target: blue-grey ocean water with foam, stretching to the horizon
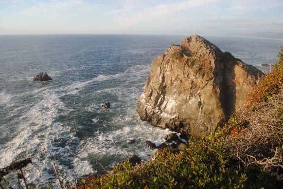
[[[30,157],[27,182],[58,184],[104,172],[136,154],[154,154],[145,141],[169,130],[140,121],[136,101],[150,63],[183,36],[0,35],[0,168]],[[283,41],[206,37],[247,64],[273,63]],[[53,79],[34,82],[46,71]],[[100,108],[111,102],[110,109]],[[135,139],[134,143],[130,140]],[[8,178],[14,183],[15,173]]]

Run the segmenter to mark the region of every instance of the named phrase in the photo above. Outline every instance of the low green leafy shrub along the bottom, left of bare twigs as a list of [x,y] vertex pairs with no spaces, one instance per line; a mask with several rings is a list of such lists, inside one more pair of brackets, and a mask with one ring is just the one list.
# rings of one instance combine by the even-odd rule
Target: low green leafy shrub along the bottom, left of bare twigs
[[120,164],[111,174],[90,178],[77,188],[276,188],[274,178],[260,169],[231,166],[225,135],[219,129],[207,138],[191,139],[180,153],[167,148],[157,151],[154,161],[136,167]]

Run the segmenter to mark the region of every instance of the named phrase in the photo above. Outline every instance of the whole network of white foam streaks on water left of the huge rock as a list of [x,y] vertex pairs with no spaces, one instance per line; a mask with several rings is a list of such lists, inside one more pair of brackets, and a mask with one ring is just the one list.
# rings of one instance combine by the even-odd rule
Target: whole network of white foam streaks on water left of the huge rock
[[[113,75],[100,74],[97,77],[84,82],[74,82],[66,86],[58,88],[42,87],[29,93],[34,94],[40,100],[29,105],[29,110],[25,115],[19,117],[20,124],[17,128],[17,135],[11,141],[0,146],[0,167],[9,165],[12,161],[18,160],[19,157],[27,157],[32,155],[33,163],[26,167],[25,171],[28,176],[28,182],[45,183],[48,180],[56,181],[52,173],[51,163],[54,157],[61,157],[64,161],[71,162],[74,168],[63,165],[57,160],[57,166],[61,177],[68,181],[72,181],[82,175],[95,173],[91,166],[89,155],[119,155],[129,156],[137,154],[144,160],[148,158],[148,154],[153,152],[149,150],[145,144],[146,140],[161,143],[164,136],[170,133],[168,130],[158,129],[149,126],[149,124],[141,122],[136,118],[133,107],[129,107],[126,116],[112,119],[113,125],[117,125],[116,130],[101,133],[98,131],[96,137],[81,141],[75,137],[74,131],[70,127],[61,123],[54,123],[54,119],[60,114],[67,114],[70,110],[64,106],[60,100],[61,97],[68,94],[76,94],[83,90],[87,85],[95,82],[107,81],[110,79],[123,79],[123,84],[127,88],[114,87],[105,89],[121,98],[136,98],[135,86],[131,82],[136,82],[145,77],[149,72],[149,66],[134,66],[127,69],[123,73]],[[126,80],[126,81],[125,81]],[[130,88],[129,88],[130,87]],[[129,90],[128,90],[129,89]],[[132,97],[134,94],[134,97]],[[127,97],[128,96],[128,97]],[[117,107],[120,105],[117,105]],[[90,110],[97,108],[97,102],[93,102]],[[114,103],[112,108],[116,108]],[[21,110],[21,109],[19,109]],[[134,126],[128,122],[137,119]],[[97,118],[93,119],[97,123]],[[123,147],[127,144],[129,138],[136,139],[134,145]],[[54,139],[63,139],[67,141],[66,146],[56,146]],[[79,146],[73,146],[77,143]],[[75,148],[75,149],[72,149]],[[111,162],[110,162],[111,163]]]

